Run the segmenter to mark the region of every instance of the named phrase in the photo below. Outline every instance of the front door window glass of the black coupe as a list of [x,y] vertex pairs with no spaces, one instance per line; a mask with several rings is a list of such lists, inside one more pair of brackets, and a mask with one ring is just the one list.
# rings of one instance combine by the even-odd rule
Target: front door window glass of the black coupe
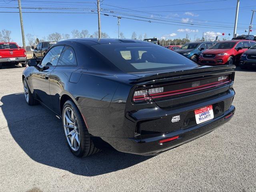
[[48,53],[44,56],[41,65],[42,66],[56,66],[58,60],[60,58],[60,54],[63,50],[64,46],[56,46],[48,51]]

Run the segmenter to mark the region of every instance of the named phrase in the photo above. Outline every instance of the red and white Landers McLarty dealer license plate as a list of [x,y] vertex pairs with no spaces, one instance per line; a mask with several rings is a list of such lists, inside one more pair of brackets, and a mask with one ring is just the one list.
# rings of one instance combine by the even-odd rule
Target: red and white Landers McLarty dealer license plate
[[196,124],[200,124],[214,118],[212,105],[195,110]]

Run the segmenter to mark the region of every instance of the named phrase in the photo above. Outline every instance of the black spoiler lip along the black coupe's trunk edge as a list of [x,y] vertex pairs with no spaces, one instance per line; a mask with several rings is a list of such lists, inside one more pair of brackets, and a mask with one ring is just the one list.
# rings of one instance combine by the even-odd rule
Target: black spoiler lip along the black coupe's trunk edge
[[199,66],[197,68],[190,68],[190,69],[184,69],[184,70],[178,70],[178,71],[169,71],[169,72],[162,72],[158,74],[148,74],[148,76],[144,76],[142,78],[138,78],[135,81],[136,82],[142,82],[147,80],[159,80],[162,78],[176,78],[179,76],[187,76],[187,75],[197,75],[197,74],[211,74],[211,73],[217,73],[227,71],[227,72],[234,72],[236,66],[235,65],[222,65],[222,66]]

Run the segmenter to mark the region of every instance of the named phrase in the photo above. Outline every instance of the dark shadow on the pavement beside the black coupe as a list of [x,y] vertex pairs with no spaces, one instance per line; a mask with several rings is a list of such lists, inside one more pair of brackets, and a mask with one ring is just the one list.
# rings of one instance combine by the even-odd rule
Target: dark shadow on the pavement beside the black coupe
[[61,120],[50,110],[41,105],[28,106],[23,93],[3,96],[1,102],[0,108],[12,137],[38,163],[73,174],[96,176],[128,168],[152,157],[107,148],[98,154],[77,158],[68,149]]

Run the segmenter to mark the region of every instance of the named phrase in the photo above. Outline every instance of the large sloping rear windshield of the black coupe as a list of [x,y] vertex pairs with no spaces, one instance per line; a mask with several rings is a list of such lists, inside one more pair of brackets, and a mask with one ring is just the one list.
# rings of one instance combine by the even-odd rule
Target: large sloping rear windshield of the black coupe
[[154,44],[115,43],[92,47],[126,73],[198,66],[188,58]]

